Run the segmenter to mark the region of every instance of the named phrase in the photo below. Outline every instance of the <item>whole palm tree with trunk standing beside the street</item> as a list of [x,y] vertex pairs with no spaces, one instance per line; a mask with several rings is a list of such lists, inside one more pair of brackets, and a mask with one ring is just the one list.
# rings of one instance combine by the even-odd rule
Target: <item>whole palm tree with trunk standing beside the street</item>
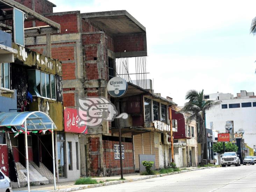
[[202,140],[201,164],[203,164],[204,162],[202,159],[204,158],[204,147],[206,143],[205,112],[214,108],[215,106],[218,106],[221,101],[207,101],[204,98],[204,90],[199,92],[196,90],[189,90],[186,93],[185,98],[189,101],[185,103],[185,106],[179,112],[183,114],[191,114],[186,120],[187,123],[190,123],[192,120],[196,120],[198,123],[198,138],[201,138]]

